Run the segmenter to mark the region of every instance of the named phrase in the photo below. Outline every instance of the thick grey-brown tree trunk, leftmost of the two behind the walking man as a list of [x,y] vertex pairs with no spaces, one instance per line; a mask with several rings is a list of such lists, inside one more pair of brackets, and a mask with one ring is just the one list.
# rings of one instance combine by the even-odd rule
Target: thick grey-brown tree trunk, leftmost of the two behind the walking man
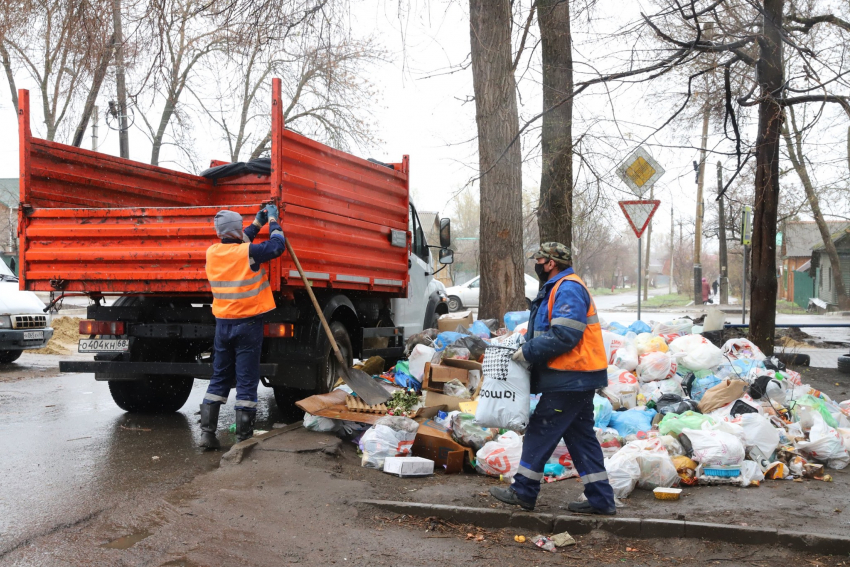
[[[509,0],[470,0],[472,84],[481,183],[480,319],[525,309],[522,156]],[[511,144],[508,147],[508,144]],[[503,155],[504,154],[504,155]]]

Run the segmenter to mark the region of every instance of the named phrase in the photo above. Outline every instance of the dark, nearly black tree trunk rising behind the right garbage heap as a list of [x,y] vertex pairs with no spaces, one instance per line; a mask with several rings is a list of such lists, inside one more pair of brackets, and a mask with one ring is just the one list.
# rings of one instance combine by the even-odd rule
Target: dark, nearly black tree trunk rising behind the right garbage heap
[[782,88],[782,8],[785,0],[765,0],[763,33],[756,68],[761,102],[756,138],[756,187],[750,271],[749,339],[773,354],[776,324],[776,222],[779,207],[779,136],[782,108],[774,98]]

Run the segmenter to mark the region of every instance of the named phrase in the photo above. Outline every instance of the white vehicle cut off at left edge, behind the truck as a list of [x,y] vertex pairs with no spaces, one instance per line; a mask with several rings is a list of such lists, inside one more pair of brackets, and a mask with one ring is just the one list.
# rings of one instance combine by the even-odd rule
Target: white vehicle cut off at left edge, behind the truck
[[53,336],[50,321],[44,302],[18,289],[18,276],[0,260],[0,364],[16,361],[25,349],[46,345]]

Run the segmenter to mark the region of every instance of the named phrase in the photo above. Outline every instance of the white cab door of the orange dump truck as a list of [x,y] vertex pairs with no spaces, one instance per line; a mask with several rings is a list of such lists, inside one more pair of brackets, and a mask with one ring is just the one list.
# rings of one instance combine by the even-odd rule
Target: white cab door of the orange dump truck
[[428,282],[433,278],[430,275],[431,252],[413,205],[410,205],[408,229],[413,241],[408,259],[410,283],[407,286],[407,297],[392,300],[393,322],[398,327],[404,327],[405,339],[423,329],[425,309],[428,306]]

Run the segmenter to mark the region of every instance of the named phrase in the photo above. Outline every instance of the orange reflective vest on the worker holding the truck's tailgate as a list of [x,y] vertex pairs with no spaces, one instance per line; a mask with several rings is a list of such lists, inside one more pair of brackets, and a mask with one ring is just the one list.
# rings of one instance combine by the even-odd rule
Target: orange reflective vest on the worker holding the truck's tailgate
[[275,308],[265,268],[251,269],[250,244],[213,244],[207,248],[207,279],[213,292],[213,315],[243,319]]

